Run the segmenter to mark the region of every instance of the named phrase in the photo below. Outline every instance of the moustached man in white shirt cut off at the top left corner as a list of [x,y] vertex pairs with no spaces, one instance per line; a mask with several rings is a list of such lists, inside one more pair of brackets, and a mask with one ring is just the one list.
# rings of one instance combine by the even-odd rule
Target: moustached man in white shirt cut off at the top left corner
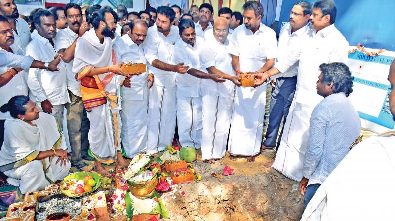
[[32,38],[30,37],[29,24],[19,18],[18,8],[14,0],[0,0],[0,14],[5,16],[11,25],[15,38],[14,44],[24,50]]

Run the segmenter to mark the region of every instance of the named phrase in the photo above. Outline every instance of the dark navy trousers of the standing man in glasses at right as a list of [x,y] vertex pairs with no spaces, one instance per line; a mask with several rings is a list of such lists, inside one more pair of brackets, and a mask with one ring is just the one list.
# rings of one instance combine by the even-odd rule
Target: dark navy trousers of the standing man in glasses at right
[[[297,78],[294,77],[279,77],[276,79],[276,86],[272,89],[270,98],[270,110],[269,110],[269,125],[266,131],[265,140],[262,143],[266,147],[276,147],[277,135],[280,129],[282,117],[284,121],[282,125],[285,125],[289,107],[291,106],[293,96],[295,94]],[[282,130],[280,137],[278,138],[277,147],[280,145],[282,136]]]

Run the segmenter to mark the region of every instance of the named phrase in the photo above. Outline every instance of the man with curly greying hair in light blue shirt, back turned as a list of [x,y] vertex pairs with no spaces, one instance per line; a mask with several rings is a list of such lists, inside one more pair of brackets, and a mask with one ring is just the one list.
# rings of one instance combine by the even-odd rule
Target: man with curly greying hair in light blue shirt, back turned
[[319,186],[349,152],[359,137],[361,121],[348,96],[353,92],[353,77],[343,63],[321,64],[317,94],[324,99],[310,118],[310,137],[299,188],[309,203]]

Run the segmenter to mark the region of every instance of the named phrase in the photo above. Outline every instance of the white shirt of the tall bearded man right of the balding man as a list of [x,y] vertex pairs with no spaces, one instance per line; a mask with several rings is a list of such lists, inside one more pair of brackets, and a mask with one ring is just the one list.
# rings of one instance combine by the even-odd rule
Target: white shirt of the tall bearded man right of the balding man
[[276,33],[262,23],[252,33],[242,24],[233,30],[228,50],[239,57],[240,71],[258,71],[266,63],[266,59],[277,57]]

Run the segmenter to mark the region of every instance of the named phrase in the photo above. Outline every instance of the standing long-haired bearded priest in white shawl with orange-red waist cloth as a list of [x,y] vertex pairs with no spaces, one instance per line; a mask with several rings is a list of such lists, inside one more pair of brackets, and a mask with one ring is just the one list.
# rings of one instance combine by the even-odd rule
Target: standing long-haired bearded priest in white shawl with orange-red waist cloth
[[120,146],[119,86],[127,75],[123,63],[116,64],[113,42],[116,21],[110,10],[101,9],[92,15],[93,29],[77,40],[73,72],[81,81],[82,101],[90,121],[88,139],[98,173],[110,176],[102,165],[117,161],[128,166]]

